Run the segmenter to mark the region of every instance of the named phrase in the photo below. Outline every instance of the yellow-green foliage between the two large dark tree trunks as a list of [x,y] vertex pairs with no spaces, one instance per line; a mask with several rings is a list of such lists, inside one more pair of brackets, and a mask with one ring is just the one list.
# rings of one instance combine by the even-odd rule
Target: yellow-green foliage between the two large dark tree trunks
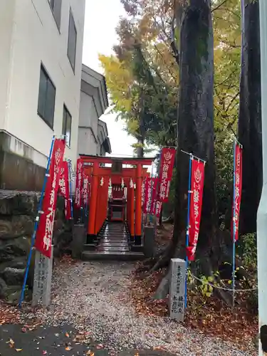
[[233,142],[239,115],[240,0],[214,1],[214,131],[219,217],[231,209]]

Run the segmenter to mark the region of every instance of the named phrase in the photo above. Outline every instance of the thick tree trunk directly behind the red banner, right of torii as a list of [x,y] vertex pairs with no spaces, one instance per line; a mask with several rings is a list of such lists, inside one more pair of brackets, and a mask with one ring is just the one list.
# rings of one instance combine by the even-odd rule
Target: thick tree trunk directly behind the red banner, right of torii
[[214,166],[214,42],[209,0],[190,1],[182,20],[180,46],[174,234],[158,265],[166,265],[173,256],[184,258],[189,175],[189,156],[181,152],[184,150],[206,161],[197,258],[201,260],[201,273],[209,274],[212,265],[219,263]]

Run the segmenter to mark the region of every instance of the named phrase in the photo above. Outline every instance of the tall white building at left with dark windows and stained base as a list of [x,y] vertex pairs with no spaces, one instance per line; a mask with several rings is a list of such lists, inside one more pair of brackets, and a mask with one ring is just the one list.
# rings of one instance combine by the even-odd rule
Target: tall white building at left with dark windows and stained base
[[0,1],[0,188],[38,190],[53,135],[77,158],[85,0]]

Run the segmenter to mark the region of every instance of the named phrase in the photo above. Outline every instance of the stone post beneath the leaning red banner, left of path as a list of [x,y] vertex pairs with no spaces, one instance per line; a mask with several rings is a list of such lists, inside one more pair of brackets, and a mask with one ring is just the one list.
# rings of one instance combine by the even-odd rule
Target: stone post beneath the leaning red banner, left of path
[[44,308],[46,308],[51,302],[53,246],[51,256],[51,258],[47,258],[39,251],[36,251],[35,253],[32,300],[33,307],[41,304]]

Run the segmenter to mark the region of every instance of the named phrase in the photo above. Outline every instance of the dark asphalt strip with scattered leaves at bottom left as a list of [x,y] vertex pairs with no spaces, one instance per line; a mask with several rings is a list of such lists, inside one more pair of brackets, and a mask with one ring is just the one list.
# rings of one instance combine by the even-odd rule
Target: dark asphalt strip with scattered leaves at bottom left
[[[104,350],[102,345],[91,340],[89,345],[75,342],[78,335],[70,325],[61,327],[43,327],[34,331],[21,331],[20,325],[0,326],[0,355],[1,356],[73,356],[73,355],[171,355],[157,350],[123,350],[117,354]],[[74,341],[73,341],[74,340]]]

